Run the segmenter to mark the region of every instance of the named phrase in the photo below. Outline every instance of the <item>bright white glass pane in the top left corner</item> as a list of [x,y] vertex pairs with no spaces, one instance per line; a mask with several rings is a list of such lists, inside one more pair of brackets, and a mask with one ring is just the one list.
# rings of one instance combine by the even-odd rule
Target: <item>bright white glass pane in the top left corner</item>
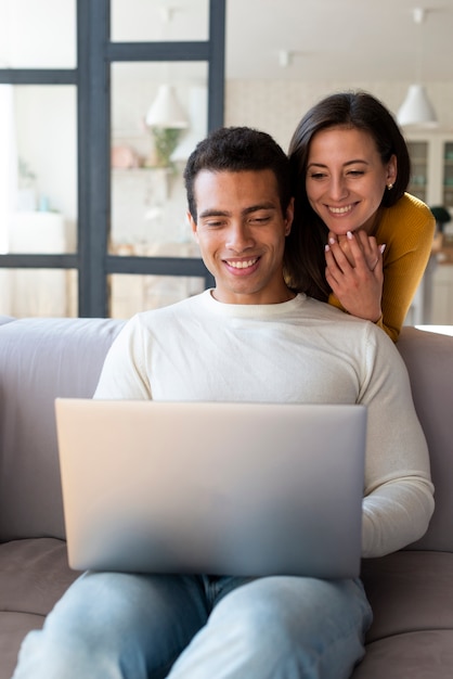
[[0,68],[75,68],[76,0],[0,0]]

